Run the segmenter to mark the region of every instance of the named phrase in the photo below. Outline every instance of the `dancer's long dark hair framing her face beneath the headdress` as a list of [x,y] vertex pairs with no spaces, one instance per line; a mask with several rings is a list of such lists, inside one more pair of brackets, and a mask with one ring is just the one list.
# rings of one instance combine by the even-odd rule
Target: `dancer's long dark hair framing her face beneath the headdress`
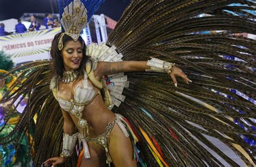
[[[51,54],[51,58],[52,58],[52,76],[57,75],[57,77],[62,78],[63,71],[64,71],[64,62],[63,62],[62,52],[58,48],[58,39],[59,39],[60,34],[62,34],[62,33],[61,32],[57,33],[55,35],[55,37],[53,38],[50,54]],[[62,39],[63,46],[65,46],[65,44],[70,40],[73,40],[73,39],[70,36],[64,34],[63,39]],[[81,74],[84,74],[85,64],[89,57],[87,57],[87,55],[86,55],[86,45],[81,36],[79,36],[78,41],[80,41],[80,43],[82,45],[84,44],[84,47],[82,50],[83,58],[82,58],[79,68],[77,69],[79,76],[81,76]]]

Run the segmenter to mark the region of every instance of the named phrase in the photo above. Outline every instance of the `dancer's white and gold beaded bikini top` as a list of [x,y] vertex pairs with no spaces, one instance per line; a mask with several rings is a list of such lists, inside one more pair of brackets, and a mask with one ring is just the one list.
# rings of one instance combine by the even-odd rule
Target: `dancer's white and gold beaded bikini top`
[[89,85],[87,80],[87,73],[84,71],[84,80],[82,86],[78,86],[75,89],[74,98],[70,101],[64,100],[57,96],[58,93],[58,82],[57,78],[53,77],[50,84],[50,89],[55,96],[55,99],[59,102],[59,106],[66,112],[75,115],[78,119],[78,126],[81,128],[87,128],[87,121],[82,119],[82,112],[86,105],[89,105],[95,97],[99,94],[93,89],[93,86]]

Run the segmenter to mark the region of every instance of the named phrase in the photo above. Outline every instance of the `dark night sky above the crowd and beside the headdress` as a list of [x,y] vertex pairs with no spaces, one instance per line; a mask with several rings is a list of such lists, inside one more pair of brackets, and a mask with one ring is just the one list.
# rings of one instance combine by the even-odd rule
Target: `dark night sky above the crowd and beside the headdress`
[[[57,0],[0,0],[0,20],[19,18],[23,13],[51,13],[58,12]],[[114,20],[118,20],[131,0],[105,0],[96,14],[103,13]]]

